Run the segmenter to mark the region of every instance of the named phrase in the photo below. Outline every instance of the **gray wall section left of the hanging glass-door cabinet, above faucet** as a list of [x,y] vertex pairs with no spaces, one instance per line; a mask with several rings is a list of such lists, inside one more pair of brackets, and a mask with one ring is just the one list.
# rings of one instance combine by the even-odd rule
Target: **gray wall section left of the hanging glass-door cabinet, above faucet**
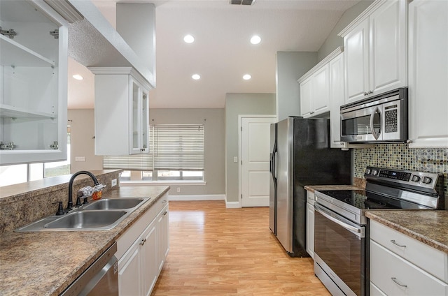
[[[94,155],[94,113],[93,109],[69,109],[70,125],[70,172],[80,170],[102,170],[103,156]],[[75,161],[76,157],[85,157],[85,161]]]

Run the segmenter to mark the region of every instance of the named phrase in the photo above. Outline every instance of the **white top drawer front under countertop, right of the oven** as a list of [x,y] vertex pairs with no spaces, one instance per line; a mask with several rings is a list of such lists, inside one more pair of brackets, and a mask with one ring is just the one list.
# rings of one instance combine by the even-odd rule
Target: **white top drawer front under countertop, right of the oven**
[[448,254],[370,220],[370,239],[448,283]]

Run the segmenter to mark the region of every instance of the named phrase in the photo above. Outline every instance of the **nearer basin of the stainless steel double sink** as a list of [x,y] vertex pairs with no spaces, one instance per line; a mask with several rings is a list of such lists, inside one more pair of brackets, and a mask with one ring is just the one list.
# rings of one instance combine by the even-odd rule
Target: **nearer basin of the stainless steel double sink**
[[66,214],[45,224],[44,228],[64,229],[111,229],[122,221],[126,211],[80,211]]

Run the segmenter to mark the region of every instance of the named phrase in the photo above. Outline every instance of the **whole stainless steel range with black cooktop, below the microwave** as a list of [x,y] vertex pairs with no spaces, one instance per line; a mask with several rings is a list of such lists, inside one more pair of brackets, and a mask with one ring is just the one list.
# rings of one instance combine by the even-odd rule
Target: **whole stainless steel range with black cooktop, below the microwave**
[[443,175],[367,167],[365,190],[316,191],[314,273],[332,295],[369,295],[365,211],[444,209]]

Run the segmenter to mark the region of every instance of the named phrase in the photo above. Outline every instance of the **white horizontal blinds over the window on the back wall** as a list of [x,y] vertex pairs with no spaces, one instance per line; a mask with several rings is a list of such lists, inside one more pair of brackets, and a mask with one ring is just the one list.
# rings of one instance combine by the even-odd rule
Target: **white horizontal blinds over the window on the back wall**
[[204,125],[150,125],[148,154],[104,156],[104,169],[204,170]]

